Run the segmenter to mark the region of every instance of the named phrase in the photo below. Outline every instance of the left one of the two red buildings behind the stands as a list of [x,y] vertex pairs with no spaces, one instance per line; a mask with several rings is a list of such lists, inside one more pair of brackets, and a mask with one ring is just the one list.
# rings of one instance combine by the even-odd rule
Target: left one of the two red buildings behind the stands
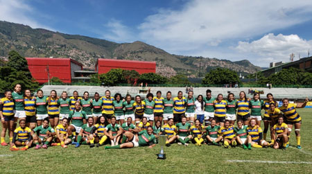
[[74,71],[83,70],[83,64],[70,58],[26,58],[28,69],[33,78],[40,84],[48,82],[48,69],[50,79],[58,77],[62,82],[71,82],[75,77]]

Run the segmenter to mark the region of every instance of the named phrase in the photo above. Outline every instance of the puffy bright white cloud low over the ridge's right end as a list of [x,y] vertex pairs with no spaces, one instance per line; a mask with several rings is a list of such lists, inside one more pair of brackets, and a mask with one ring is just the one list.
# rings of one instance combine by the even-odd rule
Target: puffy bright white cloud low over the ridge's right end
[[[306,57],[308,50],[312,49],[312,40],[303,40],[298,35],[264,35],[259,40],[252,42],[239,42],[234,50],[239,53],[251,53],[261,62],[288,62],[290,54],[295,54],[295,59]],[[268,63],[267,63],[268,66]]]

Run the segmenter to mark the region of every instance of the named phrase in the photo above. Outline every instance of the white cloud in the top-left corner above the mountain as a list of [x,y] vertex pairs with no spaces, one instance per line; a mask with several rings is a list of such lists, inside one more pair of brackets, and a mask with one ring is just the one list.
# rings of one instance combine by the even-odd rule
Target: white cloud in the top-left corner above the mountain
[[39,24],[35,19],[29,17],[34,10],[24,0],[0,0],[0,20],[24,24],[32,28],[53,30],[53,28]]

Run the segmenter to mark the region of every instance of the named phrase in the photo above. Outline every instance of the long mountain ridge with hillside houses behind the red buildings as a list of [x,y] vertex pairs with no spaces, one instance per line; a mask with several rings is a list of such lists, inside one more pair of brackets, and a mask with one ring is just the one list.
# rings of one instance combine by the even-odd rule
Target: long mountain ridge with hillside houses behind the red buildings
[[202,74],[217,67],[243,73],[261,70],[248,60],[231,62],[216,58],[173,55],[144,42],[118,44],[42,28],[33,29],[30,26],[7,21],[0,21],[0,46],[0,57],[7,57],[10,50],[16,50],[25,57],[73,58],[83,63],[85,69],[94,69],[97,58],[111,58],[155,61],[156,72],[164,76],[179,73],[194,78],[199,76],[200,68]]

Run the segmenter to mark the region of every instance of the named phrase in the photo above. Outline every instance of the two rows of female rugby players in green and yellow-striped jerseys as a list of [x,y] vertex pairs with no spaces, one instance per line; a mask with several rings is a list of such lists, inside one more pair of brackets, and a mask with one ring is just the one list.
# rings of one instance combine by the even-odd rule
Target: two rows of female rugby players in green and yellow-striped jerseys
[[[209,89],[205,97],[193,97],[193,92],[187,98],[182,92],[174,98],[171,92],[162,97],[159,91],[156,96],[148,93],[144,100],[135,96],[135,101],[129,94],[124,98],[118,93],[112,97],[108,90],[102,97],[95,93],[93,99],[88,92],[82,98],[73,92],[68,98],[67,92],[58,96],[55,90],[49,96],[38,90],[35,97],[29,89],[22,93],[21,85],[17,84],[14,92],[6,91],[0,100],[1,146],[8,146],[5,141],[8,132],[13,151],[31,146],[67,148],[68,144],[75,144],[76,148],[89,144],[93,148],[106,141],[111,146],[105,149],[152,148],[161,134],[166,135],[166,146],[177,141],[184,146],[193,142],[196,146],[206,143],[222,144],[224,148],[240,145],[244,149],[268,146],[286,149],[294,127],[297,148],[301,148],[302,119],[296,108],[305,107],[307,101],[294,104],[284,98],[278,108],[272,94],[267,94],[264,101],[259,94],[247,98],[245,92],[240,92],[237,99],[232,93],[226,98],[223,94],[214,98]],[[265,111],[263,116],[261,110]],[[269,128],[270,143],[266,141]]]

